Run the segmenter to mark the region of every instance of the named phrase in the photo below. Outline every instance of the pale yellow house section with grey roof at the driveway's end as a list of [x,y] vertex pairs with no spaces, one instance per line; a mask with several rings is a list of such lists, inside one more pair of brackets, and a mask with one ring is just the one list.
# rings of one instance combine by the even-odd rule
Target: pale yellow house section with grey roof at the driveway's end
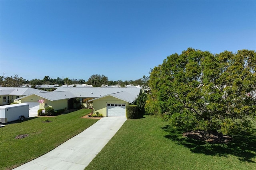
[[93,111],[104,116],[126,117],[126,106],[133,104],[140,94],[139,87],[113,88],[58,88],[55,90],[69,90],[82,101],[85,98],[94,98]]

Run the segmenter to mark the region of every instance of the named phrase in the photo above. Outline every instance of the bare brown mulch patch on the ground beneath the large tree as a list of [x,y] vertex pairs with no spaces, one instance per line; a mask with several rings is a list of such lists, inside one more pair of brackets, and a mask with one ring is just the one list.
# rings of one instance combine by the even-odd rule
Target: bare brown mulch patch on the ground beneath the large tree
[[222,133],[212,133],[209,136],[205,136],[203,131],[192,131],[183,133],[184,137],[196,139],[198,141],[206,141],[208,143],[228,143],[232,140],[229,136],[224,136]]

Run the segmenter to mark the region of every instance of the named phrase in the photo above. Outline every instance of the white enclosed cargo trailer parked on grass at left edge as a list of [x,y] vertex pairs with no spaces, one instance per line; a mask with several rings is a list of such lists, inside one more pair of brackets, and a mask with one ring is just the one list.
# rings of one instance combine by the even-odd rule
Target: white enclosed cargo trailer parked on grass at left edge
[[26,117],[29,117],[29,104],[21,103],[0,106],[0,122],[2,123],[24,120]]

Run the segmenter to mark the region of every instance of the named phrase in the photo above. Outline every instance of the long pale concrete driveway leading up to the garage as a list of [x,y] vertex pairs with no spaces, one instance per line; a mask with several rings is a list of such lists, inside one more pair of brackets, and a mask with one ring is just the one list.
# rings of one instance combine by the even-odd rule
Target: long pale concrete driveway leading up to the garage
[[124,117],[103,117],[54,150],[14,170],[84,170],[125,121]]

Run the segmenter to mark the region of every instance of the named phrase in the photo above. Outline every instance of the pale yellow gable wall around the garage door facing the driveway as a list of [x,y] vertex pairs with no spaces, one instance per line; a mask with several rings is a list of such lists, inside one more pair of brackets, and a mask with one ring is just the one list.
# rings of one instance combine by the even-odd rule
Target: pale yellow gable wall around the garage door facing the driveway
[[101,113],[103,116],[107,116],[107,104],[126,104],[129,105],[128,102],[123,100],[114,98],[112,96],[106,96],[104,98],[100,98],[93,101],[93,111],[96,113],[97,111]]

